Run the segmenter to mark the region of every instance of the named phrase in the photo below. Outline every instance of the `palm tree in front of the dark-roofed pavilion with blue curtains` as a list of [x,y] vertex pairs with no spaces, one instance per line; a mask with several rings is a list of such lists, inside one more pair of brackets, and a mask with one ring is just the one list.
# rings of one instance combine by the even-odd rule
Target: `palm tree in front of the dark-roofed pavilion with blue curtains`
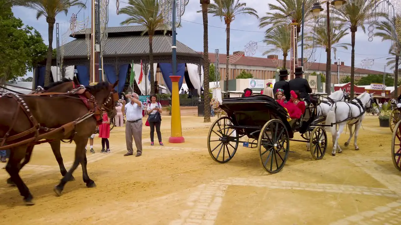
[[141,24],[145,30],[141,35],[146,32],[149,36],[149,65],[150,65],[150,94],[154,94],[154,71],[153,71],[153,35],[157,29],[164,29],[166,33],[166,26],[159,10],[158,0],[128,0],[129,6],[120,9],[119,14],[126,14],[128,17],[121,22],[121,25],[128,24]]

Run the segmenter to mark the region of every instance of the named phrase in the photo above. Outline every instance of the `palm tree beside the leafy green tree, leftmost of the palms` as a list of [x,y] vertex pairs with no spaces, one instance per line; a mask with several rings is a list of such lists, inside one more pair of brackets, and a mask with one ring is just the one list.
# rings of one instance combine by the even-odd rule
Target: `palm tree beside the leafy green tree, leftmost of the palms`
[[47,48],[45,86],[50,84],[50,68],[53,53],[53,31],[56,16],[64,12],[67,16],[68,10],[72,6],[86,8],[80,0],[12,0],[14,6],[24,6],[36,10],[36,19],[42,16],[46,18],[48,24],[49,46]]

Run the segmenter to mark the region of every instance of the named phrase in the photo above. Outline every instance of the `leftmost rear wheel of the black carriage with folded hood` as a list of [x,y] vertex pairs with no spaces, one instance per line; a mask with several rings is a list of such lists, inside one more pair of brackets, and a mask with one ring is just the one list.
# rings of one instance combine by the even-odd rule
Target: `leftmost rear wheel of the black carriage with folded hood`
[[233,120],[230,117],[220,117],[210,127],[207,149],[212,159],[218,163],[227,163],[237,151],[238,132],[231,126]]

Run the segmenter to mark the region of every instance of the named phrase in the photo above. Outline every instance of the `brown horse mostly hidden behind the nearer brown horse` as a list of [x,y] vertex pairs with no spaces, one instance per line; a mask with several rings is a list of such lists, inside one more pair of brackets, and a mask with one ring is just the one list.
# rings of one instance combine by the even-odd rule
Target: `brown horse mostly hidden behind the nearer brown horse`
[[[45,93],[45,92],[67,92],[71,91],[77,87],[79,87],[81,84],[77,80],[77,78],[74,76],[73,80],[68,79],[68,78],[62,78],[60,81],[53,82],[49,84],[49,86],[45,86],[43,88],[37,88],[35,91],[32,92],[32,94],[35,93]],[[61,157],[61,152],[60,152],[60,146],[61,146],[61,141],[60,140],[55,140],[49,142],[51,149],[53,151],[53,154],[56,158],[57,163],[59,164],[60,167],[60,173],[64,177],[65,174],[67,173],[67,169],[65,169],[64,163],[63,163],[63,157]],[[34,145],[28,146],[26,149],[26,154],[24,161],[21,163],[21,168],[24,167],[27,163],[30,161],[30,157],[32,156],[32,151],[33,151]],[[71,180],[73,181],[75,178],[71,176]],[[11,181],[11,177],[7,179],[7,183],[9,185],[15,185],[14,182]]]

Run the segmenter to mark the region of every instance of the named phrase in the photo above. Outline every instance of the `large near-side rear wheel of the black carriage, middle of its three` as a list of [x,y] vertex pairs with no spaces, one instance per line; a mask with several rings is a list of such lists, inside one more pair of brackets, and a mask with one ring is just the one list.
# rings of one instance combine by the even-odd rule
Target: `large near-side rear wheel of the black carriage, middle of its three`
[[267,121],[260,132],[257,149],[263,168],[267,172],[277,173],[283,169],[290,153],[290,138],[282,121]]

